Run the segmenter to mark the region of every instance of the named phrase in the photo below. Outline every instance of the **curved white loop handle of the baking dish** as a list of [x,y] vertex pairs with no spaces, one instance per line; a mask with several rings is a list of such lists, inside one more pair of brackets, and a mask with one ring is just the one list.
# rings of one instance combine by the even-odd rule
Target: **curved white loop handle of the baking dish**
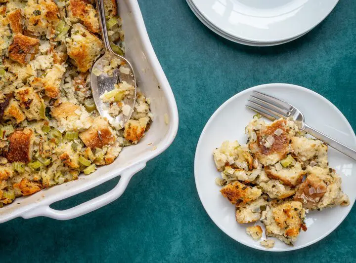
[[85,215],[119,198],[127,188],[130,179],[134,176],[134,174],[142,170],[145,166],[145,162],[139,163],[124,171],[121,174],[119,183],[115,188],[80,205],[66,210],[55,210],[49,207],[50,204],[47,204],[25,212],[23,215],[21,215],[21,217],[28,219],[43,216],[57,220],[68,220]]

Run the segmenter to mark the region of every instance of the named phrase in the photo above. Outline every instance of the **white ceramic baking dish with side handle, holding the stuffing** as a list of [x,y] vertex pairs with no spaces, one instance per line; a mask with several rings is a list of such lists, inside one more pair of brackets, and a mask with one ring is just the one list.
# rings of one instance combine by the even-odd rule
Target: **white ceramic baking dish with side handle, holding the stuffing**
[[[0,208],[0,223],[16,217],[38,216],[67,220],[98,209],[120,197],[132,176],[173,142],[178,130],[177,104],[153,51],[137,0],[118,0],[118,4],[125,31],[126,57],[133,64],[138,87],[151,99],[154,121],[149,131],[137,145],[124,148],[114,163],[99,167],[95,173],[81,175],[76,181],[17,198],[12,204]],[[168,115],[168,124],[165,114]],[[96,187],[119,175],[121,178],[118,185],[101,196],[67,210],[58,211],[49,207],[56,201]]]

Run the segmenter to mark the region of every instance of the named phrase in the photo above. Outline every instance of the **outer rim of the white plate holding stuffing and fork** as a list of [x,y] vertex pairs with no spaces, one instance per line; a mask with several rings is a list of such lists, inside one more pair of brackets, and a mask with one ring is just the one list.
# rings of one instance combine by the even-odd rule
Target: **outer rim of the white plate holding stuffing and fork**
[[215,118],[215,116],[220,113],[232,100],[244,95],[245,93],[248,93],[250,91],[253,91],[253,90],[257,90],[257,89],[263,89],[263,88],[268,88],[268,87],[271,87],[271,86],[277,86],[278,88],[295,88],[295,89],[299,89],[299,90],[303,90],[303,91],[306,91],[307,93],[311,93],[313,95],[316,95],[317,97],[319,97],[321,100],[323,100],[324,102],[326,102],[330,107],[332,107],[334,110],[337,111],[337,113],[339,113],[341,115],[341,117],[343,118],[344,121],[346,121],[346,124],[348,126],[348,128],[352,131],[351,135],[356,143],[356,135],[355,135],[355,131],[354,129],[352,128],[350,122],[347,120],[347,118],[345,117],[345,115],[332,103],[330,102],[328,99],[326,99],[324,96],[320,95],[319,93],[311,90],[311,89],[308,89],[306,87],[302,87],[302,86],[299,86],[299,85],[295,85],[295,84],[289,84],[289,83],[267,83],[267,84],[260,84],[260,85],[257,85],[257,86],[253,86],[253,87],[250,87],[250,88],[247,88],[245,90],[242,90],[238,93],[236,93],[235,95],[233,95],[232,97],[230,97],[229,99],[227,99],[221,106],[219,106],[219,108],[210,116],[209,120],[206,122],[200,136],[199,136],[199,140],[198,140],[198,143],[197,143],[197,146],[196,146],[196,149],[195,149],[195,154],[194,154],[194,182],[195,182],[195,187],[197,189],[197,192],[198,192],[198,196],[199,196],[199,199],[200,199],[200,202],[202,203],[203,207],[204,207],[204,210],[205,212],[208,214],[208,216],[210,217],[210,219],[214,222],[215,225],[217,225],[220,230],[222,230],[226,235],[228,235],[230,238],[232,238],[233,240],[239,242],[240,244],[243,244],[245,246],[248,246],[250,248],[253,248],[253,249],[258,249],[258,250],[262,250],[262,251],[268,251],[268,252],[287,252],[287,251],[293,251],[293,250],[298,250],[298,249],[302,249],[302,248],[305,248],[305,247],[308,247],[314,243],[317,243],[318,241],[320,241],[321,239],[325,238],[326,236],[328,236],[331,232],[333,232],[344,220],[345,218],[349,215],[349,213],[351,212],[354,204],[355,204],[355,200],[350,200],[351,203],[350,203],[350,209],[349,211],[337,222],[337,224],[335,224],[332,228],[328,229],[324,234],[322,234],[321,236],[319,236],[318,238],[310,241],[310,242],[307,242],[306,244],[303,244],[299,247],[287,247],[286,249],[278,249],[278,250],[274,250],[274,248],[272,249],[267,249],[265,247],[261,247],[261,246],[253,246],[251,244],[251,242],[245,242],[245,241],[242,241],[242,240],[237,240],[235,239],[230,233],[228,232],[225,232],[223,230],[223,227],[221,226],[221,224],[219,224],[218,222],[216,222],[212,216],[209,214],[207,208],[206,208],[206,204],[205,202],[203,201],[202,199],[202,196],[201,196],[201,192],[199,192],[199,189],[198,189],[198,186],[197,186],[197,164],[196,164],[196,160],[197,160],[197,155],[198,155],[198,149],[200,148],[200,145],[202,144],[202,137],[204,136],[206,130],[208,129],[208,126],[210,124],[210,122],[213,121],[213,119]]

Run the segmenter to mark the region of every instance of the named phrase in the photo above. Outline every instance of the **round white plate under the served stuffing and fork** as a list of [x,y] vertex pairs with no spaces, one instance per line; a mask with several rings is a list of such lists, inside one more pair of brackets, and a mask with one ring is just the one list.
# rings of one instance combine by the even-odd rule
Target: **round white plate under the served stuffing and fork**
[[[321,95],[300,86],[291,84],[265,84],[244,90],[227,100],[209,119],[199,138],[194,160],[195,184],[201,202],[208,215],[227,235],[236,241],[260,250],[289,251],[309,246],[331,233],[350,212],[356,199],[356,162],[329,147],[329,165],[342,177],[342,190],[350,197],[350,206],[333,207],[307,214],[308,230],[301,232],[294,247],[274,239],[274,248],[266,249],[259,241],[246,234],[246,227],[235,221],[235,206],[220,193],[221,187],[215,184],[220,176],[214,160],[213,150],[225,140],[238,140],[246,143],[245,126],[251,121],[254,112],[245,104],[253,90],[260,90],[300,109],[306,122],[313,128],[356,149],[355,133],[345,116]],[[326,117],[327,116],[327,117]]]

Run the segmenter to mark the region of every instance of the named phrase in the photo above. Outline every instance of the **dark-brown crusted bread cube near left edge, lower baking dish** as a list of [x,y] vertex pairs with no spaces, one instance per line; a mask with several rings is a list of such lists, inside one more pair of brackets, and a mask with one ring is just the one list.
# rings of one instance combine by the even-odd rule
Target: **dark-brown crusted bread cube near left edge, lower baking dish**
[[9,147],[4,157],[9,162],[31,161],[34,134],[30,128],[16,130],[8,136]]

